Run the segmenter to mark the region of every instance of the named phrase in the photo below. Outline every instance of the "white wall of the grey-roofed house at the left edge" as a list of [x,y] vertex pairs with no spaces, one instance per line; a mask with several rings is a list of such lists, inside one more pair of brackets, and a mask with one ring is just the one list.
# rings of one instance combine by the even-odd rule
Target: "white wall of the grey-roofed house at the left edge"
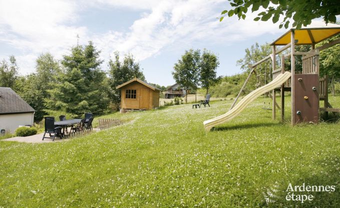
[[19,125],[33,125],[33,122],[33,112],[0,115],[0,130],[5,129],[6,132],[14,133]]

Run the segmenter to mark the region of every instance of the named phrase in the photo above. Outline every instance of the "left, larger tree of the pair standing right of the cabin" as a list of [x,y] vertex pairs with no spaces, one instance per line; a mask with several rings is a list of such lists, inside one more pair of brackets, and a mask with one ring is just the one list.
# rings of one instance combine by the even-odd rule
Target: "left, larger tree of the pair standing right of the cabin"
[[186,50],[182,58],[174,65],[172,75],[176,82],[186,90],[185,102],[188,102],[188,89],[196,91],[199,81],[200,50]]

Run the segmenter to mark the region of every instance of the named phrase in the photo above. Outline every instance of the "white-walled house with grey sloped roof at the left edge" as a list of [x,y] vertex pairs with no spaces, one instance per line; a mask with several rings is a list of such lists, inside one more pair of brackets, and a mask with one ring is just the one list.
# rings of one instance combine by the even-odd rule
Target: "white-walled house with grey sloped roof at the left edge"
[[13,89],[0,87],[0,132],[13,133],[19,125],[33,125],[35,109]]

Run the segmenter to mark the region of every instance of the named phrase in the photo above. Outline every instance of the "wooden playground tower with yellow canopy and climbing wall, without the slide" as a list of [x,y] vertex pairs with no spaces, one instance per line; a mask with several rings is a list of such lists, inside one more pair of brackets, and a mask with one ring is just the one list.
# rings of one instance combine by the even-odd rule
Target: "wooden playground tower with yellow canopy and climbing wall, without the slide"
[[[313,122],[319,120],[319,111],[327,113],[340,112],[340,109],[332,108],[328,102],[328,75],[319,77],[319,51],[340,43],[340,38],[332,40],[322,46],[315,48],[315,44],[333,35],[340,33],[340,27],[314,27],[314,28],[292,28],[278,39],[273,41],[272,53],[251,65],[251,72],[244,82],[231,108],[235,105],[238,97],[243,91],[251,74],[257,75],[256,68],[259,64],[271,59],[271,78],[285,72],[284,60],[290,58],[291,77],[288,81],[272,90],[272,118],[276,118],[276,107],[281,111],[281,120],[284,120],[284,92],[291,92],[291,124],[299,122]],[[280,48],[276,46],[283,45]],[[311,45],[308,52],[295,51],[295,45]],[[286,51],[290,48],[290,51]],[[286,52],[284,52],[286,51]],[[276,55],[281,59],[280,68],[276,68]],[[302,55],[302,71],[295,70],[295,55]],[[257,75],[258,76],[258,75]],[[276,102],[276,92],[281,92],[281,104]],[[319,107],[319,100],[323,100],[323,107]],[[230,109],[231,109],[230,108]]]

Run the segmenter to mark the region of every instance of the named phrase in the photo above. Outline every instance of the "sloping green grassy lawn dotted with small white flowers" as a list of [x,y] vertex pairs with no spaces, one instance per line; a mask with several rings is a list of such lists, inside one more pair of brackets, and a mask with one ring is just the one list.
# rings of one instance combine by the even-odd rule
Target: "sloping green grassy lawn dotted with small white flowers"
[[[0,206],[339,207],[338,122],[291,127],[273,121],[259,98],[205,133],[202,122],[232,101],[112,113],[127,122],[64,142],[0,141]],[[300,203],[285,200],[289,182],[336,189]],[[267,204],[263,192],[274,185],[278,198]]]

